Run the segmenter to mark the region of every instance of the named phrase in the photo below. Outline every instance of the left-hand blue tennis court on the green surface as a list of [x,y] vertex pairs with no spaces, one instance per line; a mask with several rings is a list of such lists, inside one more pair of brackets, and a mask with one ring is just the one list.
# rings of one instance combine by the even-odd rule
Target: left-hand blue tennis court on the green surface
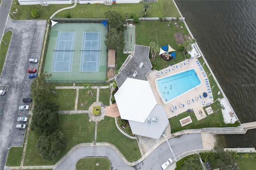
[[76,32],[58,32],[52,71],[71,71]]

